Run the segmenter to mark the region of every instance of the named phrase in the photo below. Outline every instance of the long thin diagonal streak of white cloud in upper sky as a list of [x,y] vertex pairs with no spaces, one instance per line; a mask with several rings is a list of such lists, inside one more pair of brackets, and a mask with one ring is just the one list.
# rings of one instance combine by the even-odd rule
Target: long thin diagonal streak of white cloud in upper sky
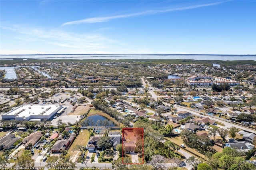
[[[230,0],[228,0],[228,1],[230,1]],[[83,20],[65,22],[64,24],[62,24],[62,26],[82,24],[82,23],[108,22],[110,20],[114,20],[114,19],[118,19],[118,18],[129,18],[129,17],[134,17],[134,16],[150,15],[150,14],[157,14],[157,13],[164,13],[164,12],[190,10],[190,9],[201,8],[201,7],[206,7],[206,6],[214,6],[214,5],[222,4],[222,3],[228,2],[228,1],[214,2],[214,3],[209,3],[209,4],[200,4],[200,5],[193,5],[193,6],[185,6],[185,7],[179,7],[179,8],[169,8],[166,10],[148,10],[148,11],[144,11],[144,12],[123,14],[123,15],[116,15],[116,16],[86,18]]]

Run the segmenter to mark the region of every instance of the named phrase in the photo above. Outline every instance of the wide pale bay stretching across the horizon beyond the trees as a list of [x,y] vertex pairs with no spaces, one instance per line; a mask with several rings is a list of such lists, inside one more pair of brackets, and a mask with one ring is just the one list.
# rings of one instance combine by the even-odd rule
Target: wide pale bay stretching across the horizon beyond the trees
[[196,59],[196,60],[254,60],[256,55],[192,55],[192,54],[58,54],[58,55],[0,55],[0,59]]

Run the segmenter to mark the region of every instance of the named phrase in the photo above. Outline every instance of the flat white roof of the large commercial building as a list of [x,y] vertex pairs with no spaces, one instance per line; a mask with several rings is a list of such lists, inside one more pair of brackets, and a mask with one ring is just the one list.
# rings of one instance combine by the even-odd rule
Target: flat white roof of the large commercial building
[[22,105],[17,109],[10,111],[6,115],[17,115],[18,117],[29,117],[31,115],[50,115],[60,105]]

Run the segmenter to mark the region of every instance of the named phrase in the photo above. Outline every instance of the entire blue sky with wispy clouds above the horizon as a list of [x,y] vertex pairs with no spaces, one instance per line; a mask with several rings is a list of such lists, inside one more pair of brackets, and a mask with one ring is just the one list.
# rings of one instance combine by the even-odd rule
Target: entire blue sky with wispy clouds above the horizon
[[0,0],[0,54],[256,54],[256,0]]

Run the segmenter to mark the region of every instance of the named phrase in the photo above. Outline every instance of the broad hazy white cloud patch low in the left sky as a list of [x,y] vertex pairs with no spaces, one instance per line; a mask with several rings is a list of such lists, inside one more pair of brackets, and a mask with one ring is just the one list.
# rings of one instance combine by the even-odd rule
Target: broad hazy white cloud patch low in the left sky
[[[99,33],[78,34],[59,29],[29,28],[19,25],[1,26],[0,28],[18,33],[15,39],[20,42],[40,42],[45,44],[49,50],[54,47],[57,49],[64,48],[70,53],[95,53],[95,51],[104,53],[117,43],[115,40]],[[58,53],[61,53],[61,51]]]

